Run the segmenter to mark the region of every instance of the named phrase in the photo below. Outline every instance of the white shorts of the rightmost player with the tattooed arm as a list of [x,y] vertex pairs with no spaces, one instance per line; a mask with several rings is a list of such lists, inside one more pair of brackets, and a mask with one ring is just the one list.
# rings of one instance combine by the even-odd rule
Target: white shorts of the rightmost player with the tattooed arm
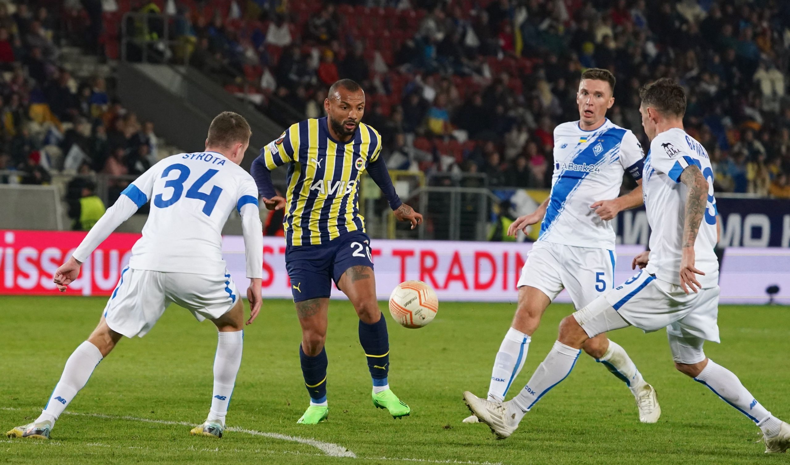
[[702,343],[719,342],[719,287],[686,294],[641,270],[608,294],[574,313],[587,336],[633,325],[645,332],[667,328],[675,362],[705,359]]

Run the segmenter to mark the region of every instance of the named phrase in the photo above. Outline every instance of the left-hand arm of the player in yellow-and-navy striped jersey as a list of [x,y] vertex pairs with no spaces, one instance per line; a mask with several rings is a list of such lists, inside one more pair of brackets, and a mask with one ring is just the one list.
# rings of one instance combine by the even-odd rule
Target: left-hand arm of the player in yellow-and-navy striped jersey
[[280,137],[261,148],[261,155],[254,159],[250,174],[258,186],[258,193],[269,210],[285,208],[285,199],[277,195],[272,182],[272,171],[293,160],[299,150],[299,125],[293,125]]

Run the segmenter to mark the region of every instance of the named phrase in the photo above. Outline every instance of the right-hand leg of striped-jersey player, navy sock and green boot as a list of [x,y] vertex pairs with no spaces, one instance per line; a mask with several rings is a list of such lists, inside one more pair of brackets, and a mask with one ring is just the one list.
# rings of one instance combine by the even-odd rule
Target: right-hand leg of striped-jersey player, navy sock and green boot
[[386,409],[393,418],[408,416],[412,409],[389,388],[389,334],[387,322],[378,309],[373,269],[356,265],[340,278],[339,287],[348,295],[359,316],[359,343],[365,351],[373,380],[373,405]]

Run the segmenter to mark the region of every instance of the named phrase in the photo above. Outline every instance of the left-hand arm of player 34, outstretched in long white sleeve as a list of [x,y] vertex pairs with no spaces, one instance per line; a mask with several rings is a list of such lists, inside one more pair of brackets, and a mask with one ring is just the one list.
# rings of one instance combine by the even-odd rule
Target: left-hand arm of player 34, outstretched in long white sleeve
[[149,168],[148,171],[141,174],[141,176],[134,180],[126,189],[123,189],[121,196],[107,208],[107,212],[96,222],[88,231],[88,235],[82,239],[77,249],[74,249],[66,263],[60,265],[55,272],[54,281],[58,286],[58,290],[66,292],[66,287],[77,279],[80,275],[80,267],[91,253],[96,250],[104,239],[109,236],[116,227],[134,215],[134,212],[148,203],[151,197],[151,190],[153,189],[153,182],[156,179],[156,173],[159,172],[159,163]]

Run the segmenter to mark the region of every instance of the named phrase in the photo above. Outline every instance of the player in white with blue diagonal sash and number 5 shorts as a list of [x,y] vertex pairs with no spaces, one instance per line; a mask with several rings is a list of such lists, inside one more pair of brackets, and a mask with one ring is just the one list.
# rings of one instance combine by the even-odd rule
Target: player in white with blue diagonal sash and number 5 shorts
[[[606,118],[615,103],[615,77],[606,69],[581,74],[576,101],[579,121],[554,130],[554,176],[543,204],[510,225],[515,235],[543,223],[518,281],[518,306],[491,370],[488,399],[502,402],[527,358],[540,318],[565,288],[580,309],[611,291],[615,271],[615,231],[611,219],[642,204],[643,154],[637,137]],[[638,187],[615,198],[623,171]],[[611,199],[611,200],[609,200]],[[526,231],[524,231],[526,233]],[[584,350],[626,383],[636,399],[639,420],[655,423],[661,414],[656,391],[642,378],[623,347],[604,334],[589,339]],[[475,415],[464,422],[477,422]]]

